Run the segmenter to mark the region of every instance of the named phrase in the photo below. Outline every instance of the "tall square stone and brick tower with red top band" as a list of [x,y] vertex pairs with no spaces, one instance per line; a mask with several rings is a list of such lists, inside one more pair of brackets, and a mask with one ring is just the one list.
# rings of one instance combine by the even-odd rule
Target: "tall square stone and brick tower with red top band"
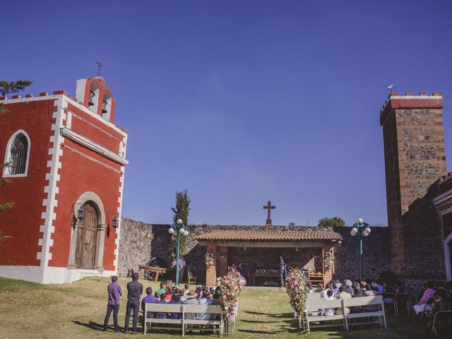
[[441,93],[391,93],[383,126],[391,270],[409,285],[444,273],[441,220],[432,206],[446,174]]

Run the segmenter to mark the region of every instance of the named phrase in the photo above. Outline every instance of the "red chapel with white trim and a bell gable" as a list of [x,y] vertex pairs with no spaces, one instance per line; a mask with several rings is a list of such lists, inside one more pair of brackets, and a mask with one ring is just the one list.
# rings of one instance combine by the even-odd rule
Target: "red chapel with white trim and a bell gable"
[[127,132],[101,77],[63,90],[0,97],[4,155],[0,275],[71,283],[117,273]]

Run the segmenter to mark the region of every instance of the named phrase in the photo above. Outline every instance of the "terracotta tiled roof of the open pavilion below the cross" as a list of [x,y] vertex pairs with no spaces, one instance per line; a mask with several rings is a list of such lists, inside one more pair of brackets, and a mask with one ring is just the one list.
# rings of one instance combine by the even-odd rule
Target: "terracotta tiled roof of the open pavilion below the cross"
[[297,241],[297,240],[326,240],[341,241],[343,237],[333,231],[232,231],[218,230],[201,234],[198,240],[278,240],[278,241]]

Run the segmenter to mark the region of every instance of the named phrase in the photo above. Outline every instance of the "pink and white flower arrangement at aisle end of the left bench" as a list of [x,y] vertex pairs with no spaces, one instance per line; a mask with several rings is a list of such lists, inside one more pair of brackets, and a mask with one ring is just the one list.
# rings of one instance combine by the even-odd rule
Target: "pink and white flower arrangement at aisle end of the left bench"
[[241,290],[240,273],[237,270],[230,270],[221,280],[218,296],[222,309],[227,312],[227,316],[232,321],[235,321],[235,316],[237,315]]

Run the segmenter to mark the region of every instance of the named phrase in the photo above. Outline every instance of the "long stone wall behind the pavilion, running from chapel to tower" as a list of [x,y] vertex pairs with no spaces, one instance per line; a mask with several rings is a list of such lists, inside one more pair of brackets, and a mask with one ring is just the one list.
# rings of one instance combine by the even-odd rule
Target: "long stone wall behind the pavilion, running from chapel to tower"
[[[119,275],[126,275],[127,269],[138,268],[147,263],[151,257],[157,257],[162,267],[172,264],[172,241],[168,233],[169,225],[151,225],[130,219],[123,219],[121,225],[121,242],[119,251]],[[206,279],[206,263],[204,255],[206,246],[199,246],[196,237],[213,230],[291,230],[314,231],[333,230],[331,227],[308,226],[234,226],[234,225],[190,225],[190,235],[187,239],[186,262],[198,283]],[[342,246],[335,248],[335,278],[357,278],[358,239],[350,235],[350,227],[335,227],[344,240]],[[371,235],[364,239],[364,276],[378,278],[379,274],[389,269],[389,241],[386,227],[373,227]],[[321,271],[321,249],[259,249],[230,247],[227,263],[244,263],[247,270],[252,272],[256,268],[278,268],[279,256],[283,255],[290,266],[305,266]],[[218,258],[219,260],[219,258]],[[220,265],[217,265],[219,275]],[[170,278],[170,277],[169,277]]]

